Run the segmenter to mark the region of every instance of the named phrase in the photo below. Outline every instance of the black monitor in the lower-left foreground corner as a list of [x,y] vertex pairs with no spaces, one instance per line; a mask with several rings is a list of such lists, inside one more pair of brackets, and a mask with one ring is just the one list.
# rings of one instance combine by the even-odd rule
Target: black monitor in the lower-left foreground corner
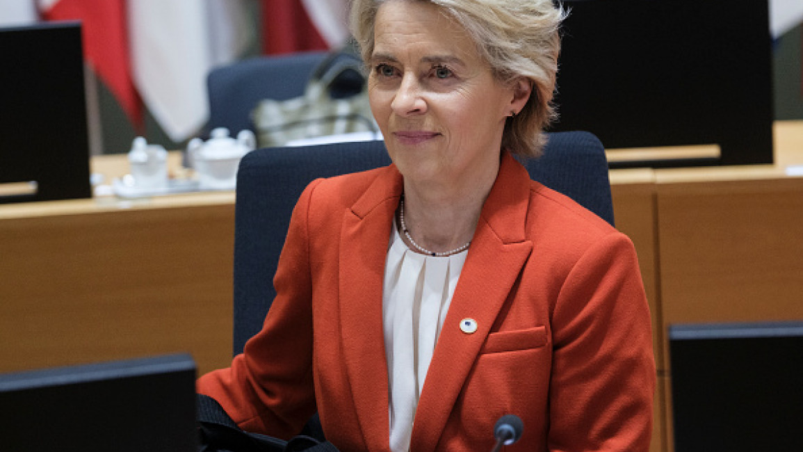
[[195,411],[183,354],[0,375],[0,450],[195,452]]

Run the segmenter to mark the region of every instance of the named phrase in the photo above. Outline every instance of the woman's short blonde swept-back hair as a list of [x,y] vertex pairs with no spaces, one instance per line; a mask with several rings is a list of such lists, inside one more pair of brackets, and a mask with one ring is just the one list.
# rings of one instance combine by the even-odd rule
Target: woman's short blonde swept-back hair
[[477,44],[502,83],[529,79],[532,94],[518,115],[508,118],[502,147],[524,157],[538,157],[543,134],[555,119],[557,57],[562,7],[552,0],[352,0],[350,25],[364,61],[373,53],[373,23],[384,2],[430,2],[458,22]]

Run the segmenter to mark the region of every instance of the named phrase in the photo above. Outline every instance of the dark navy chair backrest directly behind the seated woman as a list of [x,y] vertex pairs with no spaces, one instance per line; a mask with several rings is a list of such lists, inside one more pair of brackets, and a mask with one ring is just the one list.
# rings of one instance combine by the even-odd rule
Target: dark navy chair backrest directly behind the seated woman
[[[389,165],[383,141],[335,143],[248,153],[237,175],[234,214],[234,353],[262,328],[275,297],[273,275],[290,216],[304,188]],[[605,149],[588,132],[549,134],[544,157],[524,161],[530,177],[613,224]]]

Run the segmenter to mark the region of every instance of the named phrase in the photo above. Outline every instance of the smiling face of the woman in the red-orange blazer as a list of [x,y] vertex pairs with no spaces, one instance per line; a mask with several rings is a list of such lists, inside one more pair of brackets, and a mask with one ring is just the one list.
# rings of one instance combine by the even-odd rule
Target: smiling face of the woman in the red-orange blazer
[[493,181],[505,119],[526,99],[516,100],[465,31],[430,3],[383,3],[374,40],[371,109],[406,182]]

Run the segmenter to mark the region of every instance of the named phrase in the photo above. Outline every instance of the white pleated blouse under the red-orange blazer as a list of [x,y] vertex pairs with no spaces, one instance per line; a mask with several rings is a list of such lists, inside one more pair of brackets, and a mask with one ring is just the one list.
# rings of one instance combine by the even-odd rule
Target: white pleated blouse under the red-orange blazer
[[393,222],[382,291],[393,452],[410,450],[418,397],[467,254],[467,250],[446,257],[416,253],[402,241]]

